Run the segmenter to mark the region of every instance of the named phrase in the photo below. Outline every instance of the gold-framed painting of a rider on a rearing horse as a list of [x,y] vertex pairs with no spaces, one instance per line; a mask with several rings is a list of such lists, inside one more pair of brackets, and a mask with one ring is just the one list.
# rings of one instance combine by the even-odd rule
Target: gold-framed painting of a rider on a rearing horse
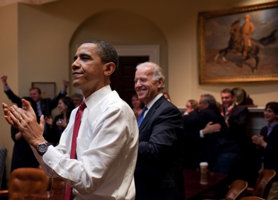
[[199,83],[278,81],[278,1],[200,12]]

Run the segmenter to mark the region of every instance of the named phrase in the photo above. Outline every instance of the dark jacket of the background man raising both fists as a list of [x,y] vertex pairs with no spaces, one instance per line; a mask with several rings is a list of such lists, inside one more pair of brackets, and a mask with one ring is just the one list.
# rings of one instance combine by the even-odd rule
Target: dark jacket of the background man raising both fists
[[[12,102],[16,103],[18,105],[18,107],[21,108],[22,102],[21,102],[20,97],[15,95],[15,93],[12,90],[5,91],[5,93]],[[65,96],[66,96],[66,94],[61,94],[61,92],[60,92],[52,100],[50,98],[40,100],[40,107],[41,107],[42,114],[45,117],[51,116],[51,112],[58,105],[59,99],[61,97],[65,97]]]

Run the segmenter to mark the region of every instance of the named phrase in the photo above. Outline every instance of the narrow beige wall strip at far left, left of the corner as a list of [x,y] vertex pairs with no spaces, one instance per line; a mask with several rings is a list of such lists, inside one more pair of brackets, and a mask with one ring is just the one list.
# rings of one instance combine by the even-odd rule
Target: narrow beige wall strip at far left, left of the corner
[[[0,7],[0,74],[9,75],[8,81],[15,92],[18,92],[17,17],[16,4]],[[0,100],[1,103],[11,103],[2,91],[0,92]],[[8,149],[6,170],[9,172],[14,142],[11,139],[11,128],[3,116],[0,117],[0,127],[0,147]]]

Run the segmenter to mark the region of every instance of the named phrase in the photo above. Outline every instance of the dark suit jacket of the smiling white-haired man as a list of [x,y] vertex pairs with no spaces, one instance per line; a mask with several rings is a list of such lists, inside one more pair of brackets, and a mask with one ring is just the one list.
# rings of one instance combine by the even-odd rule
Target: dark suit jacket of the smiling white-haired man
[[160,97],[139,128],[136,200],[184,200],[182,116]]

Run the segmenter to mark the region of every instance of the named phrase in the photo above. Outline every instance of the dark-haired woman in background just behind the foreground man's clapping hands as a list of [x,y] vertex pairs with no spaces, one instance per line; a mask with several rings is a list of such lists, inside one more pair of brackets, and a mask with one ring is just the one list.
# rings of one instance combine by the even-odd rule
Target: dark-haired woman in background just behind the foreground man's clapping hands
[[54,120],[52,117],[45,117],[49,129],[46,133],[46,140],[53,146],[57,146],[60,141],[61,134],[69,123],[71,111],[75,108],[73,101],[69,97],[62,97],[58,102],[58,110],[61,113]]

